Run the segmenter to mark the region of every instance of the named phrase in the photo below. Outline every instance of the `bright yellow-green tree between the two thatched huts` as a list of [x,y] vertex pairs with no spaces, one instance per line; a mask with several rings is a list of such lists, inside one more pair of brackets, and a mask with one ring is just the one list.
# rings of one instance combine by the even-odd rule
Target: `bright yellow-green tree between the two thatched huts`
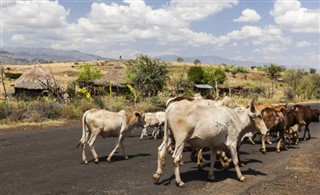
[[95,81],[102,77],[101,71],[93,68],[90,64],[86,63],[80,66],[79,77],[77,81]]

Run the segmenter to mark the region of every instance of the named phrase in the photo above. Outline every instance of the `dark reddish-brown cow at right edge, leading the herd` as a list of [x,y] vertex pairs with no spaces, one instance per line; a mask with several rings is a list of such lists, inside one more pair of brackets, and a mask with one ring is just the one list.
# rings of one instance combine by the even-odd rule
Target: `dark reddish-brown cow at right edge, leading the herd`
[[[299,113],[299,117],[304,120],[304,133],[303,140],[311,138],[309,125],[312,122],[319,122],[320,111],[312,110],[310,106],[294,105],[293,110]],[[308,138],[306,138],[306,133],[308,132]]]

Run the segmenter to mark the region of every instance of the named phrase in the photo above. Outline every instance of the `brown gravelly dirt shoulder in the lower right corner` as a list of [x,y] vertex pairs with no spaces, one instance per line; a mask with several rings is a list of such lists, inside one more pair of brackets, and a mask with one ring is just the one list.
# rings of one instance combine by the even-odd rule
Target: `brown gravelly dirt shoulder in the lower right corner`
[[192,194],[320,194],[320,142],[310,148],[313,148],[310,153],[266,165],[264,171],[268,179],[247,175],[250,182],[235,183],[233,179],[227,179],[214,185],[207,184]]

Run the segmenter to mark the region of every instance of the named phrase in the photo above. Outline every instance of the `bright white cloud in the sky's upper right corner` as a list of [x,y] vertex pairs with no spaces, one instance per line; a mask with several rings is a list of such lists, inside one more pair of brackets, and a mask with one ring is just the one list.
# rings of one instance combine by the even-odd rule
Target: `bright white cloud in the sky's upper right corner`
[[320,32],[320,9],[303,8],[297,0],[276,0],[270,14],[278,25],[291,32]]

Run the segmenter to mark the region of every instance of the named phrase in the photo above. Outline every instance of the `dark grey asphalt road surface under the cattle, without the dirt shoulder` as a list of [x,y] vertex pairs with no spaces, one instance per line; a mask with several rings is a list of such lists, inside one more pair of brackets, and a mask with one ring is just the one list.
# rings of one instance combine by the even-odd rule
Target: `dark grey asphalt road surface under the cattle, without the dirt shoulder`
[[[319,109],[320,105],[312,107]],[[267,147],[269,153],[266,155],[259,152],[259,145],[243,144],[240,154],[247,163],[241,168],[244,176],[267,178],[264,165],[312,148],[312,144],[319,142],[320,124],[312,123],[310,128],[310,141],[302,141],[299,146],[280,154],[275,152],[275,144]],[[205,164],[203,171],[198,171],[189,159],[190,152],[186,151],[185,165],[180,169],[186,188],[176,187],[169,156],[162,182],[155,185],[152,175],[157,167],[157,147],[161,140],[140,141],[140,132],[141,129],[125,140],[128,160],[124,160],[120,152],[114,155],[112,163],[107,163],[106,156],[113,149],[115,138],[99,137],[95,148],[100,163],[83,165],[81,149],[75,148],[82,133],[80,122],[68,127],[0,131],[0,194],[188,194],[210,183],[207,181],[209,164]],[[92,159],[90,151],[87,151],[87,156]],[[205,157],[209,159],[209,152],[205,152]],[[215,176],[216,181],[212,185],[227,178],[238,182],[233,168],[218,169]],[[246,182],[250,183],[249,180]]]

